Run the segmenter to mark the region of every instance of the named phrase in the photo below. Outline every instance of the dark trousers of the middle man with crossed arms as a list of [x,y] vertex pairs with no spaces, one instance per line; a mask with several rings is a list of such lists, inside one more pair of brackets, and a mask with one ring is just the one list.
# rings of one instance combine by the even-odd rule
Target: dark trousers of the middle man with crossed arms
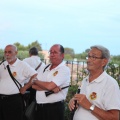
[[64,120],[64,101],[37,104],[35,120]]

